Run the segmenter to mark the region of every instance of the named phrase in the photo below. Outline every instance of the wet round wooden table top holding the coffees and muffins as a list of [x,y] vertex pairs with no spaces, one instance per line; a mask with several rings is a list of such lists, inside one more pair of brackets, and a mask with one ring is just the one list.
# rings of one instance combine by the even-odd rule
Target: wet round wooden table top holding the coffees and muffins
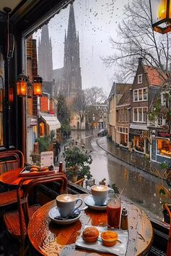
[[[85,198],[88,194],[75,195]],[[28,237],[30,243],[41,255],[104,255],[107,253],[93,252],[86,249],[75,249],[85,225],[106,225],[107,212],[86,209],[80,219],[70,225],[57,225],[49,218],[49,210],[56,206],[56,201],[50,201],[38,209],[30,219]],[[84,207],[84,205],[83,205]],[[127,256],[146,255],[153,241],[153,229],[146,214],[129,201],[122,201],[122,207],[128,210],[129,238]]]

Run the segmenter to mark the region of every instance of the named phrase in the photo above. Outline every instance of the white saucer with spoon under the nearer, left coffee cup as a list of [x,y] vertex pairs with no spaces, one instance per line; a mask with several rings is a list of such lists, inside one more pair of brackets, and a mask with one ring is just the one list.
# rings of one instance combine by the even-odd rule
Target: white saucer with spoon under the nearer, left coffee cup
[[[80,215],[81,215],[81,212],[80,212]],[[50,209],[50,211],[49,211],[49,217],[50,217],[51,221],[53,221],[54,223],[57,223],[59,225],[68,225],[68,224],[75,223],[75,221],[80,219],[80,215],[78,215],[78,217],[75,217],[75,219],[56,220],[56,219],[54,219],[54,217],[60,216],[57,207],[54,207],[54,208]]]

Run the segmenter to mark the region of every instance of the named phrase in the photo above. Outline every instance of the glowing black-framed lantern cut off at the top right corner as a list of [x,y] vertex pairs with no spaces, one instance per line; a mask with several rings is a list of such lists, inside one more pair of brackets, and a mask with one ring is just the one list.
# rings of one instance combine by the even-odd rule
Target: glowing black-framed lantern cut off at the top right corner
[[154,31],[167,33],[171,31],[171,3],[170,0],[149,0],[151,9],[151,23]]

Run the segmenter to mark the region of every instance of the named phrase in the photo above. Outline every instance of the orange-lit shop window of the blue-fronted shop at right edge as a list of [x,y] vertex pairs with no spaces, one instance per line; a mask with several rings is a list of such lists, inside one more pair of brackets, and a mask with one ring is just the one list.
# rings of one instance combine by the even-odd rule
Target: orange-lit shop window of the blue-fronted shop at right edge
[[157,153],[171,157],[171,142],[167,139],[157,140]]

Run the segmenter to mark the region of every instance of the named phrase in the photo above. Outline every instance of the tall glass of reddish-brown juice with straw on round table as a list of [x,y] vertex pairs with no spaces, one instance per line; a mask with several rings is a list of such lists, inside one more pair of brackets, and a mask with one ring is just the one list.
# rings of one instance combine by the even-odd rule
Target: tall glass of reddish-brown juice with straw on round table
[[120,228],[121,199],[112,193],[107,203],[107,226],[109,228]]

